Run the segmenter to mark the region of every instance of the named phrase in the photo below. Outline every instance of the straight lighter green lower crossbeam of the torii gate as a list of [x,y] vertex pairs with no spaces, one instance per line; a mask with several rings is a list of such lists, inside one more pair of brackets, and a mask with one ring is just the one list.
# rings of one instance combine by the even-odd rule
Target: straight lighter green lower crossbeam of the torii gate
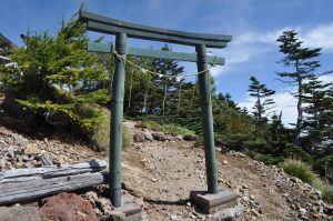
[[[88,50],[94,52],[110,53],[113,50],[112,43],[99,43],[99,42],[88,42]],[[139,49],[139,48],[128,48],[128,56],[140,56],[147,58],[160,58],[180,61],[196,62],[195,53],[183,53],[174,51],[162,51],[152,49]],[[206,57],[208,63],[214,63],[216,66],[224,66],[224,58],[218,58],[213,56]]]

